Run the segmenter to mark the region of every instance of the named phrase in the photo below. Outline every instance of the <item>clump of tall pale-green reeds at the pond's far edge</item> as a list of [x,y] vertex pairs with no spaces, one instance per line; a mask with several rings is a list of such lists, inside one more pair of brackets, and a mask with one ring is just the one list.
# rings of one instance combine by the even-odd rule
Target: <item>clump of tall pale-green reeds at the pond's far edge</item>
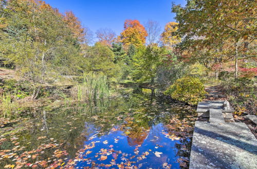
[[105,75],[90,72],[83,74],[83,80],[71,89],[71,96],[79,101],[96,101],[110,95]]

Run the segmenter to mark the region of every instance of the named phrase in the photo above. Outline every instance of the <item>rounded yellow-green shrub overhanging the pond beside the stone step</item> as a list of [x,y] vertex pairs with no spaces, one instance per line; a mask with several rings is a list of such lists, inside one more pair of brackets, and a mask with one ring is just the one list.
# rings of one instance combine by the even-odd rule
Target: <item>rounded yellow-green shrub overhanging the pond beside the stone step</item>
[[173,99],[194,105],[203,100],[207,92],[199,78],[183,77],[177,79],[164,94],[170,95]]

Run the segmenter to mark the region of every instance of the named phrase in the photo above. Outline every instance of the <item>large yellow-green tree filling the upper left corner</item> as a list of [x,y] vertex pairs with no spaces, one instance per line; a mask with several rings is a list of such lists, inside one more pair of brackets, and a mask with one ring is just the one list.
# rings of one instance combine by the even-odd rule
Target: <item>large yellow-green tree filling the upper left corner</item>
[[0,57],[31,82],[35,99],[43,84],[72,69],[74,57],[79,60],[74,34],[58,10],[41,1],[7,1],[1,15]]

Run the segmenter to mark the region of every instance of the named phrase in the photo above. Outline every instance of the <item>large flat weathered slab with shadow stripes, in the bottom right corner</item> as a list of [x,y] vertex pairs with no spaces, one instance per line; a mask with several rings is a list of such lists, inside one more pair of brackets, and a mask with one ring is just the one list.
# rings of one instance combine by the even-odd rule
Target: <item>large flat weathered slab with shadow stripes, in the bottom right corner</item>
[[197,121],[189,168],[257,168],[257,140],[245,123]]

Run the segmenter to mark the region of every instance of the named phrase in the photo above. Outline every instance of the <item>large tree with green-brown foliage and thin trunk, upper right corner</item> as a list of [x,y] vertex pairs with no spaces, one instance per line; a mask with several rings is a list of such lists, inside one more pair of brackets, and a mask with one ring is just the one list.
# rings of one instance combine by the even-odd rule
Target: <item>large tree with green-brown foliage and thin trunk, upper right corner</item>
[[185,7],[173,5],[172,11],[176,13],[184,47],[210,48],[211,44],[223,49],[227,47],[228,55],[235,61],[234,76],[237,78],[238,57],[250,55],[246,46],[257,38],[255,6],[255,1],[247,0],[190,0]]

